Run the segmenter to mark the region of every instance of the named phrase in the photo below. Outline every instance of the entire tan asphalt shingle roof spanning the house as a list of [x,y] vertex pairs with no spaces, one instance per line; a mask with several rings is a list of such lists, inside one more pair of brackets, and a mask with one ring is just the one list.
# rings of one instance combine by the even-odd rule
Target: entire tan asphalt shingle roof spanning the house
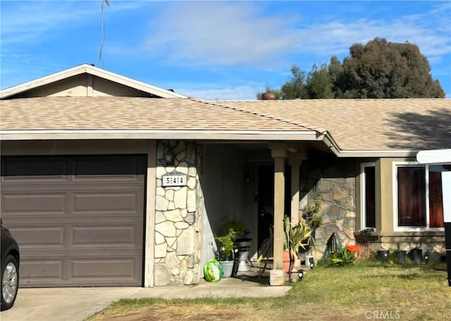
[[4,132],[316,130],[329,132],[341,150],[451,148],[450,99],[201,101],[48,96],[2,100],[0,109]]

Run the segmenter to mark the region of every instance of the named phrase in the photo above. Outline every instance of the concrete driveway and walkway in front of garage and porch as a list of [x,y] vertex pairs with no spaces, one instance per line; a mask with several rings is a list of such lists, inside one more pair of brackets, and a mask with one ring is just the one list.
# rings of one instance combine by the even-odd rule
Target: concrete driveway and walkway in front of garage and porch
[[262,287],[244,279],[201,280],[194,287],[19,289],[16,303],[1,321],[82,321],[121,298],[202,298],[284,296],[291,287]]

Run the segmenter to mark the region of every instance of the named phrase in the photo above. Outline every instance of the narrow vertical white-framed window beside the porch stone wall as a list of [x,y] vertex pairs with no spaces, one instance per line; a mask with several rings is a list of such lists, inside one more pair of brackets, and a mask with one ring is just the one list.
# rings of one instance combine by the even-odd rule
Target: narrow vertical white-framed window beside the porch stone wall
[[376,163],[360,164],[360,222],[376,229]]

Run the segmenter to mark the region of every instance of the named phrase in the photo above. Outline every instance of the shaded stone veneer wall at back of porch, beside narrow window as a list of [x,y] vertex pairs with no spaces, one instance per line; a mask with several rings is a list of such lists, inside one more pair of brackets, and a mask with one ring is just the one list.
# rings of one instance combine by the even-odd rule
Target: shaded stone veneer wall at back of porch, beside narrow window
[[321,203],[318,215],[323,224],[315,231],[316,247],[311,251],[316,260],[323,256],[333,232],[342,246],[355,242],[355,177],[354,160],[318,153],[302,162],[299,214],[305,213],[315,201]]

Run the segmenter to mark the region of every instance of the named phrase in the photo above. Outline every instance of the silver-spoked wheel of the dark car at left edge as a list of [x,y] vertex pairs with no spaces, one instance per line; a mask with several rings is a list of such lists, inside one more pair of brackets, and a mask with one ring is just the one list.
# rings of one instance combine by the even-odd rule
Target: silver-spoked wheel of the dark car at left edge
[[8,310],[16,301],[19,287],[19,269],[14,256],[6,256],[1,266],[1,310]]

